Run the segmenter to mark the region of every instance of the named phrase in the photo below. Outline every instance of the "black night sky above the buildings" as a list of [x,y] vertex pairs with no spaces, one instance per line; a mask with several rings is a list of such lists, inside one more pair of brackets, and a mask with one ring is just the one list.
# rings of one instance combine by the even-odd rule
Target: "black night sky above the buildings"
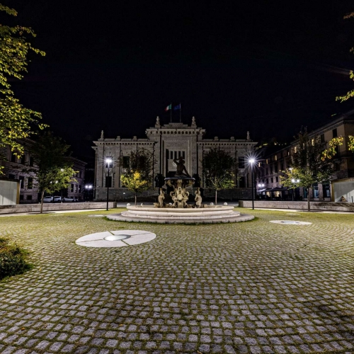
[[47,52],[14,91],[86,161],[101,130],[144,138],[171,102],[207,137],[254,140],[290,139],[354,105],[335,101],[354,87],[353,1],[1,2]]

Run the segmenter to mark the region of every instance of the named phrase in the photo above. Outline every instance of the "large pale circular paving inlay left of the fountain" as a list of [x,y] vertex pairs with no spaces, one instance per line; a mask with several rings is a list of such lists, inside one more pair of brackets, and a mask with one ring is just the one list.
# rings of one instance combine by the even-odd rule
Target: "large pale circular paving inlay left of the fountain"
[[75,242],[86,247],[124,247],[152,241],[156,234],[143,230],[118,230],[96,232],[82,236]]

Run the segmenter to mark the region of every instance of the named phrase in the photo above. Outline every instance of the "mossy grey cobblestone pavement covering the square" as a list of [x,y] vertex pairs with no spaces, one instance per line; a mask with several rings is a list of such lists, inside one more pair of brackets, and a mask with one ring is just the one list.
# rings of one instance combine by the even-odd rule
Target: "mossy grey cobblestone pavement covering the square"
[[[354,353],[354,215],[241,211],[256,219],[1,218],[0,234],[30,250],[35,268],[0,282],[0,352]],[[157,237],[119,249],[75,244],[118,229]]]

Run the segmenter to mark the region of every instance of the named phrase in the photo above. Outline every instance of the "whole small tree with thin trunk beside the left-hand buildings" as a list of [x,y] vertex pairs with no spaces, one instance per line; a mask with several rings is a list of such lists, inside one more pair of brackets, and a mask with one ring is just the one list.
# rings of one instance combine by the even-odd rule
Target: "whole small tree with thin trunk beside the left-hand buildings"
[[68,159],[69,145],[59,137],[53,137],[46,132],[30,147],[30,154],[36,169],[27,169],[35,172],[35,181],[41,193],[40,212],[43,212],[43,198],[45,193],[54,193],[75,181],[72,162]]

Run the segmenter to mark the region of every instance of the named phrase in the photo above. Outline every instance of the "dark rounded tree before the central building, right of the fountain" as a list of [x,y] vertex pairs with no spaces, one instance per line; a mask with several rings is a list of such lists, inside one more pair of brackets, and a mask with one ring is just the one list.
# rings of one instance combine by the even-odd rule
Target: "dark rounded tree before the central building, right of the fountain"
[[202,159],[207,186],[215,189],[215,205],[217,191],[234,187],[235,159],[222,149],[213,148],[206,152]]

